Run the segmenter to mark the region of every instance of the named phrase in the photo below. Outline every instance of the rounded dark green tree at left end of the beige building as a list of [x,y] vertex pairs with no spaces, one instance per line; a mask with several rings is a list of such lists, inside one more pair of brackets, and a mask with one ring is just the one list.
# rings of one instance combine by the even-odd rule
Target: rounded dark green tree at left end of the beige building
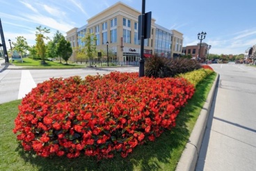
[[68,58],[70,58],[70,56],[72,55],[72,47],[70,42],[67,42],[64,36],[61,36],[61,40],[59,40],[56,47],[57,47],[57,51],[56,51],[57,55],[61,56],[67,64]]

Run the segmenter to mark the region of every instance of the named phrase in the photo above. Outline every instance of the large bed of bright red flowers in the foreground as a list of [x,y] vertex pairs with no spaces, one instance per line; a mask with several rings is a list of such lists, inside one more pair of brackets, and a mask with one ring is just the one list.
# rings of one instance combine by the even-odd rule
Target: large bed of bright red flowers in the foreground
[[193,96],[181,78],[138,78],[138,73],[50,79],[38,84],[19,106],[14,133],[25,150],[39,156],[81,153],[122,157],[164,130]]

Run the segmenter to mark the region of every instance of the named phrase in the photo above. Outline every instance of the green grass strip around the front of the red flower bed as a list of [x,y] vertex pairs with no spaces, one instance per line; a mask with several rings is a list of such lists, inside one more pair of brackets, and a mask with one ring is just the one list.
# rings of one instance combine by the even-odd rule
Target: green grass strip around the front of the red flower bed
[[189,135],[216,78],[212,74],[199,83],[195,95],[177,116],[177,125],[154,142],[140,145],[127,158],[119,155],[97,161],[95,157],[42,158],[24,152],[13,133],[20,100],[0,104],[0,170],[175,170]]

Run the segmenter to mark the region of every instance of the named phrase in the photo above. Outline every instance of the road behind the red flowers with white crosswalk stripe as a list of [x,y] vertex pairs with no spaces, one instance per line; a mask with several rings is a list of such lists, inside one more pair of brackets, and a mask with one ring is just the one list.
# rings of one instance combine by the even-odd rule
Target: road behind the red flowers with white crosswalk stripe
[[22,99],[38,83],[48,80],[49,78],[69,76],[107,74],[112,71],[120,72],[138,72],[138,67],[117,67],[105,69],[70,69],[70,70],[2,70],[0,72],[0,104]]

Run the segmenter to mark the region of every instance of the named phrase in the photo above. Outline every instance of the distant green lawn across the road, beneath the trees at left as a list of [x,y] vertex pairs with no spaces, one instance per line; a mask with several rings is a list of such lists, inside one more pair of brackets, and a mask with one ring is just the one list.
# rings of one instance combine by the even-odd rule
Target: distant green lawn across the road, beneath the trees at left
[[59,61],[49,61],[45,60],[47,63],[46,65],[41,64],[41,60],[33,60],[32,58],[22,58],[23,63],[20,60],[14,60],[11,63],[13,63],[16,66],[23,66],[23,67],[33,67],[33,68],[39,68],[39,69],[64,69],[64,68],[81,68],[85,67],[86,65],[77,65],[77,64],[65,64],[65,61],[63,63],[59,63]]

